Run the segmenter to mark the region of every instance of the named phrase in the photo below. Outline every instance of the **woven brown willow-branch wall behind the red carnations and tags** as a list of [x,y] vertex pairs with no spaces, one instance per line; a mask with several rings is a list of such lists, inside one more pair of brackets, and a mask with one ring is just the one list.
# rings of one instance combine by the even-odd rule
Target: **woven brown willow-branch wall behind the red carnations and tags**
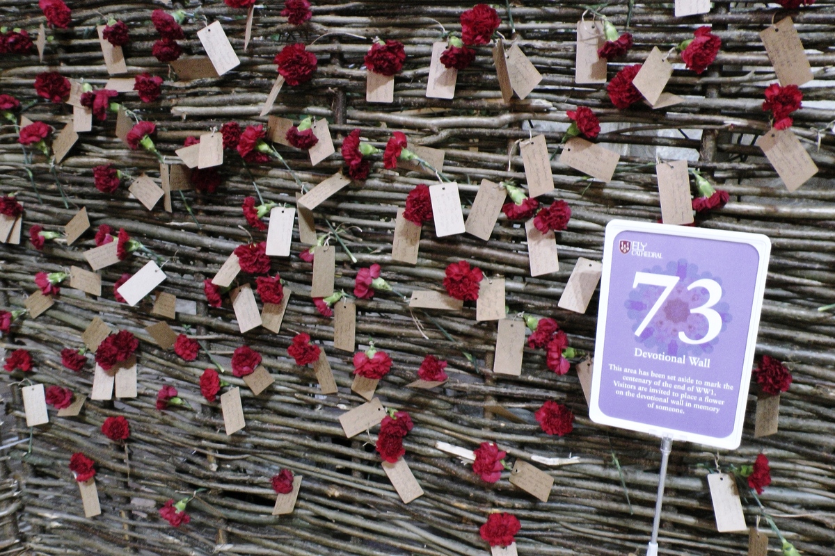
[[[397,3],[366,0],[352,3],[316,2],[313,18],[293,28],[279,15],[282,3],[256,8],[249,48],[243,48],[245,15],[222,2],[190,3],[195,13],[185,24],[180,43],[187,54],[203,55],[196,33],[219,20],[240,57],[240,66],[222,78],[178,81],[165,64],[150,54],[156,34],[150,24],[154,8],[162,3],[71,2],[73,23],[68,30],[49,31],[43,63],[37,55],[0,58],[0,93],[12,94],[26,107],[24,114],[54,128],[71,121],[72,109],[46,103],[33,90],[33,79],[47,68],[69,78],[84,78],[101,88],[105,71],[95,25],[109,17],[128,23],[131,43],[125,47],[128,75],[149,72],[165,78],[156,103],[139,103],[135,93],[121,93],[119,102],[158,126],[155,141],[161,153],[177,162],[174,151],[189,135],[205,133],[235,120],[266,123],[258,114],[276,78],[273,57],[286,43],[304,42],[319,58],[311,82],[285,87],[271,114],[326,118],[337,144],[337,154],[311,168],[300,151],[279,147],[296,178],[310,188],[342,165],[338,148],[354,128],[382,147],[392,130],[407,133],[410,143],[442,148],[443,173],[461,184],[464,213],[473,202],[482,178],[495,182],[514,179],[524,184],[518,149],[509,148],[529,137],[529,125],[544,133],[554,153],[567,123],[565,111],[584,105],[604,123],[601,143],[622,153],[610,183],[590,181],[556,162],[552,163],[556,189],[544,199],[564,199],[573,210],[566,231],[558,233],[560,271],[530,278],[524,227],[499,219],[487,243],[468,235],[436,238],[425,226],[417,265],[392,261],[392,232],[397,208],[417,183],[434,178],[417,173],[387,172],[380,157],[373,158],[372,174],[365,183],[353,183],[316,210],[321,234],[326,220],[341,227],[341,238],[357,258],[337,248],[337,290],[352,292],[357,270],[371,263],[382,265],[382,277],[400,293],[413,289],[441,289],[448,263],[466,259],[488,275],[507,278],[507,304],[511,313],[526,312],[556,318],[569,334],[571,345],[584,352],[594,348],[596,297],[585,314],[556,308],[575,260],[600,259],[605,223],[612,218],[654,222],[660,218],[655,181],[656,156],[691,158],[717,187],[731,194],[731,202],[698,225],[705,228],[766,233],[772,238],[766,300],[757,352],[790,362],[794,383],[782,396],[779,433],[753,438],[754,397],[751,396],[741,447],[714,453],[696,445],[676,444],[667,479],[661,521],[660,546],[669,554],[746,553],[747,536],[716,533],[706,466],[751,463],[765,452],[772,462],[772,485],[762,495],[767,512],[775,516],[783,534],[807,554],[835,554],[835,321],[818,312],[832,303],[835,258],[835,137],[831,128],[835,110],[827,108],[835,84],[835,3],[818,1],[791,13],[816,79],[802,88],[804,108],[795,113],[794,131],[802,138],[820,172],[795,193],[788,193],[762,151],[753,141],[769,128],[762,112],[763,91],[774,73],[759,39],[759,32],[788,12],[762,3],[714,3],[711,13],[674,18],[671,3],[627,3],[600,8],[619,29],[629,19],[635,47],[623,63],[640,63],[653,46],[666,51],[692,37],[701,24],[711,24],[722,39],[716,63],[701,76],[676,69],[667,91],[685,98],[667,111],[635,106],[625,111],[612,107],[604,86],[574,85],[576,23],[582,3],[540,0],[516,2],[510,7],[516,42],[529,55],[544,79],[525,101],[510,107],[501,102],[490,48],[478,48],[471,68],[459,74],[452,101],[425,97],[429,56],[433,42],[442,40],[442,27],[459,32],[458,16],[472,3]],[[33,31],[43,16],[33,2],[3,0],[3,24]],[[501,33],[511,40],[509,11],[498,7]],[[171,9],[171,8],[169,8]],[[587,18],[590,16],[586,16]],[[366,39],[358,38],[362,36]],[[406,45],[403,72],[396,78],[391,105],[365,101],[362,57],[371,38],[393,38]],[[610,78],[619,64],[611,63]],[[3,553],[124,554],[466,554],[488,553],[478,537],[478,526],[496,509],[515,513],[522,530],[517,535],[523,554],[625,554],[639,552],[649,537],[655,505],[659,452],[654,438],[590,423],[576,373],[558,376],[547,370],[542,352],[527,350],[519,378],[496,377],[489,372],[495,343],[495,323],[477,323],[469,304],[460,313],[411,313],[394,293],[378,293],[357,301],[357,346],[373,338],[394,360],[392,373],[382,380],[377,394],[387,408],[411,413],[415,427],[407,436],[407,461],[425,494],[403,504],[387,480],[373,450],[376,428],[348,440],[338,417],[364,400],[350,391],[351,353],[328,344],[333,337],[331,318],[316,312],[306,293],[311,264],[296,256],[307,246],[292,244],[290,258],[273,258],[294,292],[281,333],[264,328],[241,335],[228,300],[222,308],[208,308],[202,282],[211,278],[233,248],[249,241],[240,204],[255,189],[240,165],[230,157],[222,168],[224,182],[214,194],[186,191],[200,228],[186,213],[179,195],[173,213],[161,203],[148,211],[125,188],[104,195],[93,186],[92,168],[114,163],[134,175],[146,171],[159,180],[159,164],[149,153],[130,151],[114,136],[115,117],[94,123],[83,133],[56,176],[68,199],[85,206],[93,227],[108,223],[125,228],[148,248],[169,259],[168,279],[159,291],[196,302],[196,314],[178,313],[168,321],[176,332],[186,326],[219,358],[246,343],[265,357],[276,383],[258,398],[228,374],[225,380],[241,386],[246,428],[227,437],[219,404],[200,396],[198,378],[211,364],[205,353],[194,363],[183,363],[164,351],[144,328],[160,320],[150,313],[146,299],[135,308],[117,303],[113,283],[122,273],[134,273],[147,259],[133,255],[101,271],[103,295],[84,296],[69,288],[46,313],[23,318],[3,337],[7,349],[25,346],[35,359],[31,379],[58,384],[76,393],[89,393],[89,370],[72,373],[63,368],[62,348],[81,346],[80,334],[99,316],[114,328],[133,331],[139,348],[139,396],[114,403],[85,403],[77,418],[56,418],[50,410],[48,425],[31,431],[27,443],[8,448],[0,464],[5,475],[0,496],[0,542]],[[819,133],[817,130],[820,130]],[[0,193],[17,193],[25,204],[23,242],[3,245],[0,307],[21,308],[36,289],[33,275],[56,272],[70,265],[83,268],[83,251],[93,247],[92,231],[72,246],[48,242],[42,252],[26,241],[28,227],[62,230],[78,208],[65,208],[43,157],[25,163],[17,132],[3,126],[0,136]],[[817,143],[817,145],[816,145]],[[690,149],[690,150],[681,150]],[[696,153],[698,156],[696,157]],[[235,161],[239,162],[235,162]],[[28,172],[33,175],[40,200]],[[300,191],[291,173],[279,163],[253,167],[266,200],[296,203]],[[430,181],[429,183],[432,183]],[[252,232],[257,240],[264,233]],[[331,244],[334,242],[331,240]],[[446,338],[435,323],[454,341]],[[311,368],[297,367],[286,348],[296,332],[310,333],[326,347],[339,386],[338,395],[321,396]],[[477,364],[462,351],[472,353]],[[404,388],[412,382],[427,353],[449,362],[450,380],[443,388]],[[228,360],[228,359],[227,359]],[[11,383],[7,373],[4,381]],[[160,412],[155,394],[170,384],[191,408]],[[4,442],[28,438],[23,419],[20,385],[10,386]],[[562,438],[544,434],[532,412],[549,399],[565,403],[576,414],[574,431]],[[501,404],[523,416],[517,423],[485,409]],[[128,453],[100,432],[104,418],[125,415],[131,423]],[[468,465],[435,448],[443,441],[473,449],[491,440],[508,451],[509,459],[579,457],[578,463],[548,467],[554,477],[549,502],[542,503],[514,488],[507,473],[495,485],[483,483]],[[70,454],[84,452],[97,462],[96,477],[102,514],[84,518],[78,487],[68,471]],[[620,463],[623,483],[621,484]],[[275,500],[270,478],[288,467],[304,476],[296,510],[274,517]],[[192,520],[172,528],[159,518],[157,508],[169,498],[183,498],[206,488],[189,504]],[[627,498],[628,496],[628,498]],[[743,497],[748,523],[757,522],[759,509]],[[767,527],[763,528],[767,529]],[[778,550],[776,538],[772,552]]]

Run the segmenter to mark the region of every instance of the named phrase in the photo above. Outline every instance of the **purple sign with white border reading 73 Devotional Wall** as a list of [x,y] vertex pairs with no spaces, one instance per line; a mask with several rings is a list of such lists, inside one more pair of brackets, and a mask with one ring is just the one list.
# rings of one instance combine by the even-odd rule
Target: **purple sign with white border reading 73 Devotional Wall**
[[592,420],[736,448],[769,253],[757,234],[610,223]]

